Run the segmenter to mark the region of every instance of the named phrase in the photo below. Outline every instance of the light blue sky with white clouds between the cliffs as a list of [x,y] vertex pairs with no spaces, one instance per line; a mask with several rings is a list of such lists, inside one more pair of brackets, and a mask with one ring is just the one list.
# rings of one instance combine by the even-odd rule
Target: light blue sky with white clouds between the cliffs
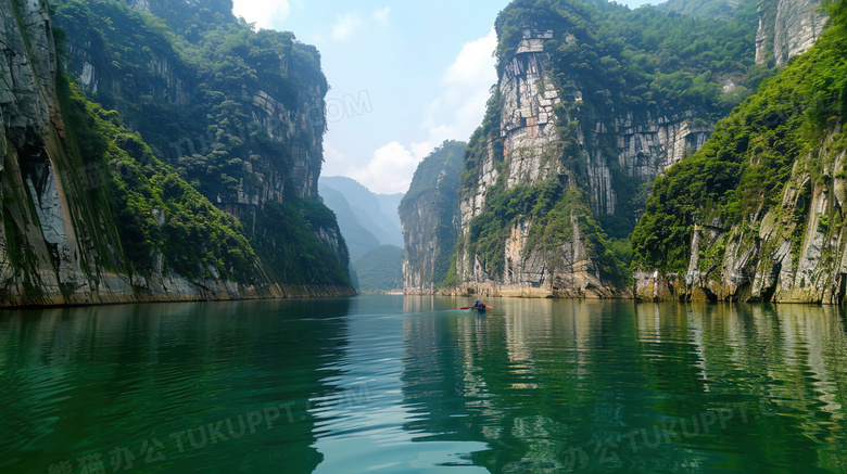
[[[620,1],[632,8],[656,0]],[[445,139],[468,140],[496,82],[492,26],[508,0],[235,0],[257,28],[321,53],[331,90],[323,176],[408,189]]]

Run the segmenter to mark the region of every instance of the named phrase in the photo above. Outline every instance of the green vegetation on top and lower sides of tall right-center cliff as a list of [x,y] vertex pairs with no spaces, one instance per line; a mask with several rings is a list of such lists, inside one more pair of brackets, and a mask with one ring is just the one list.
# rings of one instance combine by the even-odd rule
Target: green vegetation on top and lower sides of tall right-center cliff
[[[498,73],[503,79],[508,67],[518,67],[513,61],[527,33],[543,35],[539,87],[552,86],[562,102],[554,110],[558,141],[544,145],[540,162],[542,168],[557,171],[531,184],[507,183],[514,178],[507,176],[508,162],[522,159],[523,152],[504,156],[505,104],[497,90],[470,140],[462,193],[469,198],[478,193],[489,156],[494,157],[497,180],[488,183],[484,208],[470,222],[468,239],[459,241],[458,254],[471,262],[479,258],[482,271],[500,281],[508,267],[507,241],[529,222],[521,256],[543,255],[535,271],[555,274],[577,264],[577,251],[562,245],[574,239],[576,225],[593,264],[589,271],[624,286],[632,254],[629,235],[643,213],[652,177],[632,176],[618,157],[622,151],[615,131],[599,125],[637,127],[655,123],[650,117],[685,116],[696,117],[694,127],[708,129],[749,97],[772,71],[755,64],[756,2],[736,3],[730,17],[715,20],[649,7],[632,11],[606,1],[511,2],[497,18]],[[597,184],[590,177],[589,168],[598,159],[609,168],[615,192],[609,214],[595,202]]]

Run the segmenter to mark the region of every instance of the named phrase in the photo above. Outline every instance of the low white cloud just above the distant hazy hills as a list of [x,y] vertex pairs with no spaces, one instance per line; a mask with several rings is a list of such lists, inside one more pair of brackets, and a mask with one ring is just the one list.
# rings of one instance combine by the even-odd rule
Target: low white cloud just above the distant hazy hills
[[405,193],[420,159],[399,142],[391,142],[374,153],[364,168],[351,168],[346,176],[379,194]]

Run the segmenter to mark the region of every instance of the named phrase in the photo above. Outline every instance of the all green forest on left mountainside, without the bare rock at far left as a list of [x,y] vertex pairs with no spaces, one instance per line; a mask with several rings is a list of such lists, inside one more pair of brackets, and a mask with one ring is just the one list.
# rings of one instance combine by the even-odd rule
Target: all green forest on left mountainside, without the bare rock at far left
[[85,90],[65,87],[66,123],[105,170],[128,271],[162,255],[192,279],[349,284],[336,217],[316,201],[317,50],[254,31],[227,0],[147,3],[54,3],[61,60]]

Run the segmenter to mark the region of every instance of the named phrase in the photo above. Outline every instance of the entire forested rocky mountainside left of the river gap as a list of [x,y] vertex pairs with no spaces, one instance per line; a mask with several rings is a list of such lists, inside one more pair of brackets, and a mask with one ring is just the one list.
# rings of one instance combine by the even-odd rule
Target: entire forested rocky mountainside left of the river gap
[[3,305],[353,293],[317,52],[184,3],[4,7]]

